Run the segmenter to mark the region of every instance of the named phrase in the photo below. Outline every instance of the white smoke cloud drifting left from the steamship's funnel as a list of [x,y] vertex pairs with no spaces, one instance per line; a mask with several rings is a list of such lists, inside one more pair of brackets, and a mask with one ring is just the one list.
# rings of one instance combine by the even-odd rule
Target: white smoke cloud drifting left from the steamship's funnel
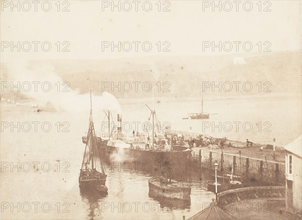
[[[8,63],[8,81],[12,81],[14,85],[19,82],[30,82],[32,88],[29,91],[20,90],[22,94],[33,98],[39,105],[49,106],[50,104],[56,111],[68,111],[71,114],[81,114],[90,109],[90,94],[80,94],[79,91],[71,89],[72,85],[66,88],[67,83],[63,83],[63,79],[57,75],[54,66],[48,62],[41,61],[39,64],[30,64],[28,61],[18,61]],[[37,90],[33,87],[32,82],[39,82]],[[49,91],[43,91],[41,84],[51,85]],[[89,83],[87,84],[89,88]],[[48,90],[48,86],[44,86]],[[59,87],[60,86],[60,87]],[[58,89],[59,88],[59,89]],[[65,88],[65,89],[64,89]],[[65,92],[63,91],[65,90]],[[102,110],[115,111],[121,113],[120,105],[117,99],[108,92],[103,92],[101,96],[92,96],[92,107],[94,112]]]

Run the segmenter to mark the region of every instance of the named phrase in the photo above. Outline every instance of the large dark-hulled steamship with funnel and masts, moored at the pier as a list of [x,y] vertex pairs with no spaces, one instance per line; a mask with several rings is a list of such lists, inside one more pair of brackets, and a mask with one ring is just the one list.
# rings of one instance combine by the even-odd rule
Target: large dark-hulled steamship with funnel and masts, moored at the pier
[[[118,114],[117,116],[117,131],[113,131],[110,128],[111,114],[109,111],[105,112],[109,122],[108,134],[107,137],[100,136],[97,138],[98,148],[102,151],[102,154],[107,155],[108,159],[119,155],[120,158],[123,158],[121,160],[127,162],[135,161],[151,164],[160,162],[164,167],[175,168],[177,166],[178,169],[179,167],[185,168],[185,163],[191,155],[191,150],[182,144],[182,142],[179,142],[175,136],[172,136],[171,141],[168,141],[168,138],[164,134],[161,134],[161,132],[156,134],[156,113],[153,109],[150,109],[150,111],[151,115],[149,119],[152,118],[152,128],[149,128],[149,130],[152,130],[152,134],[149,135],[148,132],[144,132],[139,136],[134,136],[133,140],[128,141],[125,139],[125,135],[122,134],[121,115]],[[82,140],[84,144],[87,143],[86,137],[83,137]]]

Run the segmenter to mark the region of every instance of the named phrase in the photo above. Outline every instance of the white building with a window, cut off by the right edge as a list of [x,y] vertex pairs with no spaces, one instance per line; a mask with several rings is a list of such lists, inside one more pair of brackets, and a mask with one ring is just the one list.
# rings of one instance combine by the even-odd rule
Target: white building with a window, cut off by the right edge
[[302,209],[302,143],[301,137],[285,146],[286,208]]

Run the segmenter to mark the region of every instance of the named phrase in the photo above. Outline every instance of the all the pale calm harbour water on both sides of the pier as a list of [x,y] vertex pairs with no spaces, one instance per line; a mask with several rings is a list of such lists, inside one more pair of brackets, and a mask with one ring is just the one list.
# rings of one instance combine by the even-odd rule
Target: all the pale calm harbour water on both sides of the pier
[[[271,123],[271,132],[268,133],[259,132],[257,128],[249,133],[218,131],[208,134],[243,141],[249,138],[254,142],[264,143],[275,137],[277,145],[282,146],[300,135],[300,106],[299,98],[251,99],[247,102],[229,100],[226,104],[221,100],[206,101],[205,111],[218,113],[210,116],[208,122],[250,121],[255,124],[268,121]],[[123,121],[144,122],[149,116],[143,102],[122,104],[121,108]],[[196,109],[197,111],[200,109],[198,101],[156,103],[159,120],[165,119],[164,121],[171,122],[174,130],[190,131],[191,126],[192,132],[200,132],[202,121],[182,120],[187,117],[188,112],[196,112]],[[183,215],[186,215],[186,218],[192,216],[202,209],[202,202],[207,202],[214,197],[214,194],[206,189],[205,183],[208,177],[194,170],[184,174],[186,182],[192,184],[190,205],[150,198],[147,180],[151,174],[148,172],[128,172],[108,168],[106,185],[109,194],[107,196],[98,197],[80,192],[78,177],[85,148],[81,137],[88,127],[89,109],[83,115],[74,116],[66,112],[35,113],[30,107],[2,103],[1,111],[2,122],[13,121],[17,124],[18,121],[21,123],[27,121],[42,124],[47,121],[51,124],[49,132],[42,131],[41,126],[38,126],[37,132],[33,128],[29,132],[24,132],[22,129],[20,132],[17,129],[11,132],[5,129],[1,134],[2,202],[17,206],[14,209],[4,209],[2,217],[5,219],[179,219]],[[98,131],[103,117],[101,114],[94,113],[94,122]],[[60,126],[58,132],[57,122],[68,122],[70,132],[62,132],[64,126]],[[20,172],[18,168],[13,170],[10,169],[11,167],[5,168],[7,165],[18,167],[18,162],[20,162]],[[34,163],[37,165],[34,166]],[[43,167],[42,163],[44,163]],[[28,164],[31,164],[31,167]],[[49,165],[51,167],[48,168]],[[20,202],[19,212],[18,202]],[[40,202],[36,203],[37,210],[33,202]],[[28,203],[31,204],[30,210]],[[44,203],[43,207],[42,203]]]

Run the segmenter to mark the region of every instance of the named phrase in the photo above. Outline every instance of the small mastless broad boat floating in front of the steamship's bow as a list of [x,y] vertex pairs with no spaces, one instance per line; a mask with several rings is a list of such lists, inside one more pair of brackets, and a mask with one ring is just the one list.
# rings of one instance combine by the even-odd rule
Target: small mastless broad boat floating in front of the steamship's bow
[[148,180],[149,194],[171,199],[191,201],[191,187],[164,177],[152,177]]

